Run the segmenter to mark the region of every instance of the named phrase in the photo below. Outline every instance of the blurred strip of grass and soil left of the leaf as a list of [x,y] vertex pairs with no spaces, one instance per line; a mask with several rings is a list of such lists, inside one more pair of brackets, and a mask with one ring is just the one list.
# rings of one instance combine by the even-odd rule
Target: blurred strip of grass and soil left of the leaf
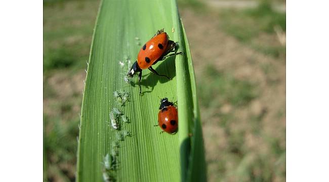
[[44,1],[45,181],[75,180],[82,96],[75,86],[83,84],[77,77],[87,66],[98,5]]

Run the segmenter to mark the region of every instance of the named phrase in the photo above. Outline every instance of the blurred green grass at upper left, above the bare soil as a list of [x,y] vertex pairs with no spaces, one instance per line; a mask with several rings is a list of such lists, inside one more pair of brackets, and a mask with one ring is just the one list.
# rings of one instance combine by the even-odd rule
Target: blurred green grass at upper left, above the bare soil
[[44,7],[44,73],[84,69],[89,58],[97,2],[46,1]]

